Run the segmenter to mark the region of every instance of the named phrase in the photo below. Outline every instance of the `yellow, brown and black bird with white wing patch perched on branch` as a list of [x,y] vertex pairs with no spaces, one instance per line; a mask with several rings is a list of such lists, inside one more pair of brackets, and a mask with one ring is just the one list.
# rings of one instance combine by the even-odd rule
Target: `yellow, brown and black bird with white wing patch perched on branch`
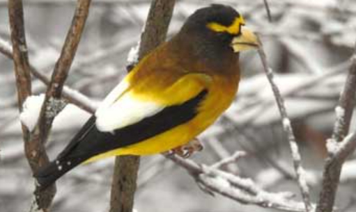
[[45,189],[100,158],[189,145],[230,106],[240,81],[239,54],[258,43],[231,6],[199,8],[109,92],[56,159],[35,174],[38,185]]

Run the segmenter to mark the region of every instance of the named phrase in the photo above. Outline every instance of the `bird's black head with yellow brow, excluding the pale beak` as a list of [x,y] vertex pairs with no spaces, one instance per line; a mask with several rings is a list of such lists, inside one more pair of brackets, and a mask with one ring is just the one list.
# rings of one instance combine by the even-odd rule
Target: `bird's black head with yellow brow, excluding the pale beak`
[[177,37],[196,56],[221,60],[233,57],[232,42],[241,35],[243,25],[245,20],[234,8],[212,4],[190,15]]

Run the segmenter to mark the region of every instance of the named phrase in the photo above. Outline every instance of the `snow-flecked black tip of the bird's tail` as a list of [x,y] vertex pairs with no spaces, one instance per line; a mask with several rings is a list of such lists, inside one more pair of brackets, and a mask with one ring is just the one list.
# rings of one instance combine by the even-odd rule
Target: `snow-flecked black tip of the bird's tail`
[[37,183],[40,186],[40,190],[44,190],[48,186],[54,184],[54,182],[63,176],[63,174],[75,168],[75,166],[82,163],[82,158],[65,158],[52,161],[48,165],[40,168],[34,177],[37,179]]

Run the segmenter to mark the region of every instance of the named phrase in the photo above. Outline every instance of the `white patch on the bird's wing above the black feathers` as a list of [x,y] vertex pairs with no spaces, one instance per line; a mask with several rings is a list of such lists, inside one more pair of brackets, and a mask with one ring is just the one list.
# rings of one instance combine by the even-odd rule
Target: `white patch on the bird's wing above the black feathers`
[[126,127],[155,115],[164,108],[153,101],[135,99],[130,92],[123,94],[128,85],[123,81],[102,101],[95,113],[96,127],[100,131],[111,132]]

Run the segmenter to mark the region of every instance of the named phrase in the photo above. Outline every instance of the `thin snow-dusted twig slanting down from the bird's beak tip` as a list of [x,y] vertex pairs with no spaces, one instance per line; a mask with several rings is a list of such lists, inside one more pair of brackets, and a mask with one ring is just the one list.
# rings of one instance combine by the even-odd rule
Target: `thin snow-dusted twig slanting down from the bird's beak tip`
[[272,91],[274,93],[274,97],[277,101],[277,106],[279,109],[279,113],[281,114],[283,129],[288,136],[289,145],[291,147],[292,158],[293,158],[293,166],[296,174],[296,179],[298,186],[300,188],[300,192],[302,193],[302,198],[304,200],[306,211],[310,212],[312,210],[310,196],[309,196],[309,187],[307,185],[307,180],[305,175],[304,168],[302,167],[302,159],[300,157],[300,152],[297,146],[297,142],[295,141],[295,136],[293,133],[293,129],[291,126],[291,121],[288,118],[286,107],[284,106],[284,99],[281,97],[281,93],[279,92],[279,88],[273,80],[273,72],[270,67],[268,67],[267,58],[265,56],[265,51],[263,50],[263,44],[260,42],[260,48],[258,49],[258,54],[261,58],[263,64],[263,70],[268,78],[268,81],[271,85]]

